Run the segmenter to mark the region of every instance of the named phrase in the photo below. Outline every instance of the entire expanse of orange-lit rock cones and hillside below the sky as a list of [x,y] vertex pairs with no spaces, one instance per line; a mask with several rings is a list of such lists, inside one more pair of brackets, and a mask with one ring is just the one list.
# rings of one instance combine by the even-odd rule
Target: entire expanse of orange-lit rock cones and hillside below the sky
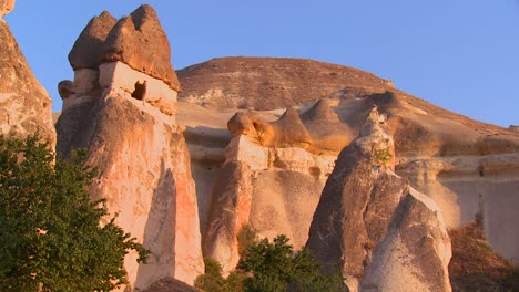
[[233,270],[247,225],[308,247],[350,291],[450,291],[447,228],[478,211],[490,244],[519,254],[513,128],[311,60],[225,58],[175,72],[155,11],[141,6],[120,20],[104,11],[81,32],[54,131],[51,100],[3,20],[0,41],[2,79],[14,76],[0,84],[1,133],[40,132],[62,158],[88,149],[92,198],[152,251],[147,264],[126,257],[128,290],[193,284],[204,257]]

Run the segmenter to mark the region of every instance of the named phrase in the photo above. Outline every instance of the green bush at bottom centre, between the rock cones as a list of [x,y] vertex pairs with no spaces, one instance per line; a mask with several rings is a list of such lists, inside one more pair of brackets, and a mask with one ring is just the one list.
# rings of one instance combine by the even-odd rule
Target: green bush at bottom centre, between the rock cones
[[320,273],[320,265],[307,249],[294,252],[286,236],[252,246],[237,268],[250,274],[244,291],[344,291],[340,273]]

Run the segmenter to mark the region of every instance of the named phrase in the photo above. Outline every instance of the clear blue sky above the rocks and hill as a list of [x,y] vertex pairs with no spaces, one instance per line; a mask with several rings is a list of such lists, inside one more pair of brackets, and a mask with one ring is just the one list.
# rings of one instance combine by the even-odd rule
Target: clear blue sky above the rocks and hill
[[[141,1],[19,0],[6,20],[61,109],[57,84],[88,21],[126,15]],[[294,56],[393,80],[418,97],[476,119],[519,124],[518,0],[149,0],[175,69],[216,56]]]

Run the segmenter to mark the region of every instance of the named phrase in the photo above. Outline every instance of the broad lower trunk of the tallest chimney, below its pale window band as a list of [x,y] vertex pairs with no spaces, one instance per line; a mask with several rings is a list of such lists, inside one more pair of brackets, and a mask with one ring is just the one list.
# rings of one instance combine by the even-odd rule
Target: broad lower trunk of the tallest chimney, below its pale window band
[[116,223],[152,251],[147,264],[133,253],[125,258],[131,286],[146,289],[164,277],[192,284],[204,265],[187,148],[173,117],[128,95],[98,96],[63,112],[58,150],[89,149],[99,169],[92,197],[106,198]]

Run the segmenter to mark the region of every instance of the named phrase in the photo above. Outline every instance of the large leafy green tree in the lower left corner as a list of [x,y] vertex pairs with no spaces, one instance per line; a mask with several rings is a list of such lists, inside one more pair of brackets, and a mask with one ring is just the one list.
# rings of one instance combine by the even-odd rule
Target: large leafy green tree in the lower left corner
[[37,136],[0,135],[0,291],[110,291],[126,283],[123,259],[149,251],[90,201],[84,155],[58,160]]

